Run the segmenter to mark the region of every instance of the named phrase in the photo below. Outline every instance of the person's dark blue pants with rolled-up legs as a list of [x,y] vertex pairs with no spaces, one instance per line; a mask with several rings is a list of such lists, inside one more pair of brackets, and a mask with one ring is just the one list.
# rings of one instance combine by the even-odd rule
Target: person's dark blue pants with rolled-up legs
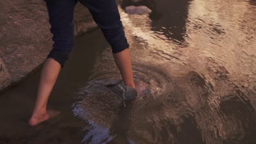
[[[94,21],[112,47],[113,53],[129,48],[115,0],[79,1],[90,10]],[[78,0],[45,0],[45,2],[54,41],[48,58],[55,59],[63,67],[74,45],[73,13]]]

